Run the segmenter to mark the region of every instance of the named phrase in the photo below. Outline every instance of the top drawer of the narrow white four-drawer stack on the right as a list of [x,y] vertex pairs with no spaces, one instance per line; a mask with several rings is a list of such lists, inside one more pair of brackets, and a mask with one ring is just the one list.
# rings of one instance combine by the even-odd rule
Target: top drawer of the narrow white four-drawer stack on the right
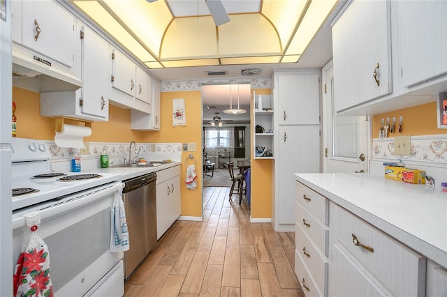
[[327,225],[329,223],[329,200],[298,181],[295,187],[297,201]]

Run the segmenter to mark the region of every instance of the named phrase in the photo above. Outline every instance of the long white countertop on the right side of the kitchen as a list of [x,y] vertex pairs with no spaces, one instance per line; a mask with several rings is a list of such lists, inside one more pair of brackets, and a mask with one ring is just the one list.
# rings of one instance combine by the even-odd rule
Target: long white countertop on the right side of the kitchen
[[369,174],[295,176],[297,181],[447,268],[447,192],[441,188]]

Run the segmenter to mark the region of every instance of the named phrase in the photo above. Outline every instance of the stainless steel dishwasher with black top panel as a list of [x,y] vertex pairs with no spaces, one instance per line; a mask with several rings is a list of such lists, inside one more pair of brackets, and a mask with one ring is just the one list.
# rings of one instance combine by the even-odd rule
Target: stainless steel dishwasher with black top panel
[[129,250],[124,252],[124,278],[156,245],[156,174],[124,181],[123,201],[129,228]]

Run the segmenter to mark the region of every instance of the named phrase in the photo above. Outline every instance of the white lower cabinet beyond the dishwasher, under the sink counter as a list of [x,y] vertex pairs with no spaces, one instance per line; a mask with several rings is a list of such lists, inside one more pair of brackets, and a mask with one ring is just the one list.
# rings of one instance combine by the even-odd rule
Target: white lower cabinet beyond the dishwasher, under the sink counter
[[182,212],[180,166],[156,172],[156,234],[161,238]]

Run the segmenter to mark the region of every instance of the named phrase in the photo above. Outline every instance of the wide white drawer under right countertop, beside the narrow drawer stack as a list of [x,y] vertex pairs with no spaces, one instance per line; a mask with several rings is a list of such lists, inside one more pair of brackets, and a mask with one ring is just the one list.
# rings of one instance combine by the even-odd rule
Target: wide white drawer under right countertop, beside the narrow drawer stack
[[[353,236],[374,252],[354,245]],[[330,244],[344,248],[353,261],[371,272],[394,295],[425,294],[423,256],[333,203],[330,204]]]

